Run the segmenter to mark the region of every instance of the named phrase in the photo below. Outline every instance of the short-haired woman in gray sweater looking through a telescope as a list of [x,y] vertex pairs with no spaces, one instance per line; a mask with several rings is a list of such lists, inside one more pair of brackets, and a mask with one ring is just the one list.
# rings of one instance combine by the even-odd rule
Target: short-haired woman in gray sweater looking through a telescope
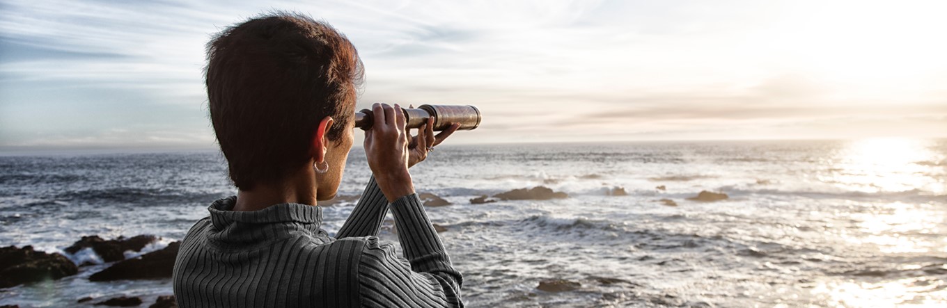
[[[456,126],[409,142],[397,104],[374,104],[373,177],[332,238],[317,200],[335,196],[353,144],[362,65],[341,33],[277,12],[207,44],[210,118],[237,196],[213,202],[174,265],[181,307],[462,306],[462,278],[415,194],[410,165]],[[404,258],[377,235],[395,216]]]

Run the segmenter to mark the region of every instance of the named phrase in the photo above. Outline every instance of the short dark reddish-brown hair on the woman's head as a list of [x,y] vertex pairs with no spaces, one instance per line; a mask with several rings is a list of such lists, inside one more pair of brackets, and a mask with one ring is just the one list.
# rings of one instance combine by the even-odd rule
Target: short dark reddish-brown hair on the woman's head
[[362,60],[342,33],[298,13],[229,26],[207,43],[210,121],[241,190],[273,183],[310,159],[326,116],[338,141],[355,110]]

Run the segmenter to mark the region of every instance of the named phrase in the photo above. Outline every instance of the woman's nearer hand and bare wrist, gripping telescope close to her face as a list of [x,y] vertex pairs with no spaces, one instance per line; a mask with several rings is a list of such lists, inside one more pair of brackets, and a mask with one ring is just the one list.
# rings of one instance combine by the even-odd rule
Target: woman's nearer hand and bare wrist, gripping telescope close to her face
[[408,173],[408,133],[404,113],[395,104],[375,103],[371,106],[371,129],[365,131],[365,155],[371,173],[388,202],[414,194]]

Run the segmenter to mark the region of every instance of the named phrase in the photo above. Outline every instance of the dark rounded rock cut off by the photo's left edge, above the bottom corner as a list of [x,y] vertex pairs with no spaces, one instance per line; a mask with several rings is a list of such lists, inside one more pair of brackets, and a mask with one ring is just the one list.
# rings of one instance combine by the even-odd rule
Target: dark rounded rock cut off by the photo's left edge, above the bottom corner
[[0,288],[57,280],[78,272],[79,267],[59,253],[36,251],[32,246],[0,248]]

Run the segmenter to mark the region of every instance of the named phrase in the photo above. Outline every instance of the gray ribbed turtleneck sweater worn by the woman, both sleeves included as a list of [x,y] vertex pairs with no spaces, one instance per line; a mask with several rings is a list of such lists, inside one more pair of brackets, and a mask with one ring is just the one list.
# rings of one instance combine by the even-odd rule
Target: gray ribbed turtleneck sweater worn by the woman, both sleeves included
[[[174,296],[181,307],[462,307],[451,265],[418,195],[387,203],[374,178],[335,238],[322,209],[283,203],[230,211],[215,201],[181,245]],[[378,231],[391,209],[404,258]]]

